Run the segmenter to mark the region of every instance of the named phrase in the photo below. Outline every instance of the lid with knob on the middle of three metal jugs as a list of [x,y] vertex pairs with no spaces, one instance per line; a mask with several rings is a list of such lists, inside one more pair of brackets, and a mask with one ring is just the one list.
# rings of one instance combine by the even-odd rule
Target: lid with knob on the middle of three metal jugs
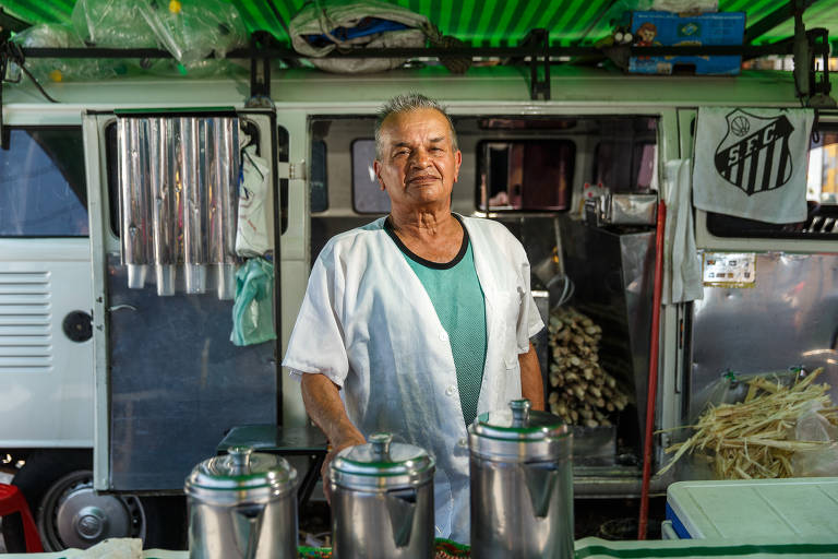
[[369,442],[337,453],[330,464],[330,477],[347,487],[405,487],[433,477],[435,461],[424,449],[393,442],[388,432],[376,432]]

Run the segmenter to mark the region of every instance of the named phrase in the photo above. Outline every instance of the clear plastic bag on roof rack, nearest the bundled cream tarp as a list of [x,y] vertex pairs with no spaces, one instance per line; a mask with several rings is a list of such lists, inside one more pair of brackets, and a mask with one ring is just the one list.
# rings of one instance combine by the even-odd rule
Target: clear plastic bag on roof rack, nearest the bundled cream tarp
[[136,3],[157,40],[178,62],[190,64],[247,46],[248,32],[236,7],[223,0],[141,0]]

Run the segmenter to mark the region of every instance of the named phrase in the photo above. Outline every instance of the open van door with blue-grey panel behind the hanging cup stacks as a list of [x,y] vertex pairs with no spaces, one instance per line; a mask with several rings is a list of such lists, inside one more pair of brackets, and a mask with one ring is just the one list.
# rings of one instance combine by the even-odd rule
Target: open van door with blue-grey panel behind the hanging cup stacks
[[[213,111],[158,110],[155,114],[148,110],[142,115],[134,111],[133,116],[168,119],[168,122],[188,120],[194,126],[222,117],[235,121],[239,142],[231,153],[241,157],[244,143],[255,144],[256,154],[270,167],[271,194],[278,197],[273,111]],[[95,487],[132,492],[180,491],[190,469],[215,454],[217,443],[231,427],[277,423],[280,412],[276,344],[237,347],[230,342],[232,300],[219,298],[208,285],[214,273],[210,265],[201,264],[193,270],[200,267],[197,271],[203,274],[206,269],[207,284],[202,285],[205,293],[188,294],[187,290],[204,289],[189,283],[182,251],[177,252],[180,257],[175,257],[172,262],[173,293],[158,295],[160,282],[151,269],[143,282],[136,275],[136,266],[123,264],[120,237],[128,234],[133,238],[137,229],[133,222],[129,224],[129,231],[120,227],[119,118],[123,118],[119,111],[83,116],[93,214]],[[211,144],[203,135],[204,123],[200,126],[201,135],[194,136],[199,142],[189,147],[194,148],[200,165],[211,157],[220,159],[217,153],[211,154]],[[210,126],[206,124],[207,134]],[[185,130],[180,129],[178,138],[185,136]],[[176,150],[173,145],[169,144],[168,148]],[[122,148],[124,151],[124,146]],[[130,152],[128,156],[142,157],[142,153]],[[177,157],[177,154],[172,156],[172,166],[178,165]],[[190,182],[185,171],[172,173],[171,197],[178,207],[173,226],[185,227],[184,219],[190,218],[185,213],[200,210],[189,204],[185,189]],[[206,180],[207,189],[216,188],[218,182],[214,180],[212,177]],[[151,203],[160,203],[160,200]],[[266,205],[275,207],[273,198]],[[273,238],[274,212],[270,215],[268,235]],[[185,235],[191,235],[185,228],[179,230],[183,235],[175,233],[172,246],[187,242]],[[235,233],[235,223],[232,230]],[[220,277],[218,274],[216,284]],[[275,294],[277,290],[278,285]]]

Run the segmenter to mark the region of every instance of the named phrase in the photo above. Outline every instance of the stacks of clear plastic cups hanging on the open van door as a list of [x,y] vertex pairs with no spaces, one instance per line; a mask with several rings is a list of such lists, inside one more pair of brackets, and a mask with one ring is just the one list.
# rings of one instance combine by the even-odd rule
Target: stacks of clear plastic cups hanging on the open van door
[[121,117],[122,263],[158,295],[236,290],[239,123],[232,117]]

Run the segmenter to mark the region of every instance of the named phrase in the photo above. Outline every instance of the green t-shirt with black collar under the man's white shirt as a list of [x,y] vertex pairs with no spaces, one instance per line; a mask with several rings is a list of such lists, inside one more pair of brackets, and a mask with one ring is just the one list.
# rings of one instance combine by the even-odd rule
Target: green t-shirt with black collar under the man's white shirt
[[[454,215],[459,221],[459,217]],[[451,262],[431,262],[412,253],[393,231],[390,218],[384,229],[398,246],[433,304],[442,328],[448,334],[457,370],[463,419],[470,425],[477,416],[477,400],[486,365],[486,301],[475,269],[468,231],[463,222],[463,245]]]

